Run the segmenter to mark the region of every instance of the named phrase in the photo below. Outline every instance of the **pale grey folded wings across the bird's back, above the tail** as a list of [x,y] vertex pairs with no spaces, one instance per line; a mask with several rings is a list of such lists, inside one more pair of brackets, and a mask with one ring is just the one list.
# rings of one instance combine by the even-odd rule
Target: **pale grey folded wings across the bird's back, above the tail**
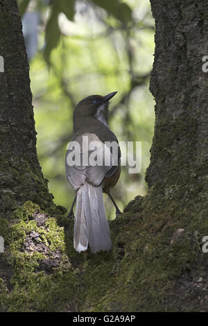
[[[83,140],[83,136],[86,136]],[[87,143],[87,142],[88,143]],[[71,144],[71,143],[69,143]],[[85,133],[68,145],[65,160],[67,179],[74,190],[78,190],[85,181],[94,186],[101,185],[105,177],[114,174],[120,163],[120,149],[111,151],[95,134]],[[87,146],[88,144],[88,146]],[[72,165],[72,159],[77,159]],[[84,162],[87,159],[87,162]]]

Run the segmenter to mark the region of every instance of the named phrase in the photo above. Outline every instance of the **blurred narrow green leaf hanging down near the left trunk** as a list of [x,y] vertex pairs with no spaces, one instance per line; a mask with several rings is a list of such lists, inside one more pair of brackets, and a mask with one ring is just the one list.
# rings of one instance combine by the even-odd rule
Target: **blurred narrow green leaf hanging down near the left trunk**
[[58,10],[52,10],[49,22],[46,25],[46,46],[44,49],[44,59],[50,64],[51,51],[58,45],[60,40],[60,29],[58,26]]

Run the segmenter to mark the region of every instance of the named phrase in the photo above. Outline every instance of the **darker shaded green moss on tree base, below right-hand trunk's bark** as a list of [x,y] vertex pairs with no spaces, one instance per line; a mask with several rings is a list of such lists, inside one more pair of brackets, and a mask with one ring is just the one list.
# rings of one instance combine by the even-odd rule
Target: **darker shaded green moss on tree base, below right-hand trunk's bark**
[[[184,287],[179,291],[177,280],[187,273],[184,284],[188,284],[196,265],[198,275],[202,273],[205,254],[201,239],[208,234],[208,222],[202,220],[197,202],[191,204],[190,210],[190,203],[180,206],[173,199],[161,199],[152,190],[148,198],[132,201],[132,207],[110,223],[113,250],[88,254],[82,272],[80,311],[187,308],[183,301],[190,290]],[[140,213],[134,213],[137,205]],[[179,228],[184,232],[174,240]],[[200,311],[200,303],[189,300],[189,309]]]

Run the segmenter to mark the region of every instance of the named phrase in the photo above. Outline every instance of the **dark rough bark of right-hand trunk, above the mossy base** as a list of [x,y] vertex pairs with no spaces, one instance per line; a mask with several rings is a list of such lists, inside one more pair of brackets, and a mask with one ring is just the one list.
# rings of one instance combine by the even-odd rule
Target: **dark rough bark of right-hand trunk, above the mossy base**
[[[155,17],[155,135],[146,180],[162,194],[207,192],[206,1],[151,1]],[[187,193],[186,193],[187,191]],[[184,198],[185,199],[185,198]]]

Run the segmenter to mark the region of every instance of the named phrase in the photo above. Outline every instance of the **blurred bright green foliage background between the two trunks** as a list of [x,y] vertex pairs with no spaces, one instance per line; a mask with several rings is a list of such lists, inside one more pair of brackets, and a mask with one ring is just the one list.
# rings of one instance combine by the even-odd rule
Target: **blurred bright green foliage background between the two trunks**
[[[31,1],[28,10],[38,10],[41,17],[30,76],[37,153],[54,201],[69,209],[74,196],[64,173],[74,106],[85,96],[118,91],[111,101],[110,128],[119,140],[142,142],[141,173],[129,174],[123,166],[112,191],[122,209],[134,196],[146,194],[144,175],[155,121],[148,90],[154,53],[150,4],[148,0]],[[107,215],[114,217],[106,196],[105,203]]]

